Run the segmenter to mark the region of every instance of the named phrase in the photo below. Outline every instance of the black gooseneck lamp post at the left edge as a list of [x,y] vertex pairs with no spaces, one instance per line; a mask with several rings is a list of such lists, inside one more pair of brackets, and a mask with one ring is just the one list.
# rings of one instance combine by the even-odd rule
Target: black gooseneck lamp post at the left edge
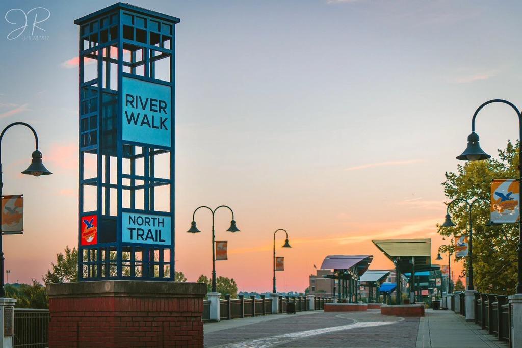
[[[4,138],[4,134],[7,131],[7,129],[14,127],[14,126],[26,126],[29,128],[33,135],[34,135],[34,142],[35,142],[35,150],[33,151],[31,157],[31,164],[29,167],[22,172],[22,174],[28,174],[28,175],[34,175],[34,176],[40,176],[40,175],[49,175],[52,174],[50,171],[48,171],[45,166],[42,163],[42,153],[38,151],[38,135],[36,134],[36,131],[34,131],[33,127],[28,125],[24,122],[15,122],[11,123],[7,127],[2,130],[2,133],[0,134],[0,199],[2,196],[2,188],[4,186],[4,182],[2,181],[2,139]],[[5,297],[5,288],[4,288],[4,251],[2,248],[2,215],[3,211],[0,211],[0,273],[2,274],[1,280],[2,283],[0,284],[0,297]]]

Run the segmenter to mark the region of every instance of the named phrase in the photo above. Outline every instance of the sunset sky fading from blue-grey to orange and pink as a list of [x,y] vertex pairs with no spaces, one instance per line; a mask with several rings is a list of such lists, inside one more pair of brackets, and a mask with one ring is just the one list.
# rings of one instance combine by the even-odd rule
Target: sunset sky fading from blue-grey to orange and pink
[[[113,3],[0,3],[0,127],[31,124],[53,172],[20,174],[33,137],[23,127],[6,133],[4,194],[25,196],[25,233],[4,237],[11,283],[41,282],[56,253],[77,246],[74,20]],[[175,259],[188,281],[211,275],[211,214],[196,215],[203,233],[186,233],[202,205],[234,211],[235,234],[225,232],[230,212],[216,213],[216,239],[229,246],[228,261],[216,270],[240,291],[271,291],[278,229],[288,231],[292,246],[280,248],[278,232],[277,255],[286,263],[277,274],[281,292],[304,291],[327,255],[373,255],[370,269],[392,268],[372,239],[431,238],[437,263],[445,243],[436,234],[446,213],[441,184],[457,169],[473,112],[497,98],[522,107],[520,1],[130,3],[181,19]],[[26,39],[9,40],[21,25],[8,22],[16,17],[11,11],[6,19],[8,11],[35,7],[51,14],[36,39],[27,39],[29,16]],[[517,139],[516,115],[507,105],[489,105],[476,131],[482,149],[495,155]]]

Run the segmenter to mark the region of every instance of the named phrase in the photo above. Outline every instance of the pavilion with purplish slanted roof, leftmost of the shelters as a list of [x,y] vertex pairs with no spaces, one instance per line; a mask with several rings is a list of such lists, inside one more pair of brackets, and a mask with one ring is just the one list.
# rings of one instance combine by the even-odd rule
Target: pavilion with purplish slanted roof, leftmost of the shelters
[[334,279],[334,282],[337,282],[339,301],[357,302],[358,282],[372,260],[372,255],[330,255],[323,260],[321,269],[333,270],[333,274],[323,275],[323,277]]

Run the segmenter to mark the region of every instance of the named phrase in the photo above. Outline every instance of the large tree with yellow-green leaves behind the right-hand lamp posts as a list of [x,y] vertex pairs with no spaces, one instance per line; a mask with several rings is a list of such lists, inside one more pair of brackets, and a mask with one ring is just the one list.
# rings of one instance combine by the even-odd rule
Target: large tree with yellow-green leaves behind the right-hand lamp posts
[[[457,173],[446,172],[442,184],[448,201],[462,198],[471,203],[473,245],[473,285],[479,292],[513,294],[517,283],[518,224],[486,226],[490,221],[492,179],[514,179],[518,177],[518,146],[508,141],[505,150],[499,150],[499,159],[466,162],[457,166]],[[438,233],[451,237],[449,251],[454,253],[453,237],[467,234],[469,230],[469,207],[455,202],[449,207],[455,227],[439,226]],[[464,274],[468,272],[468,257],[457,257],[464,262]],[[458,282],[457,282],[458,283]],[[457,290],[457,284],[455,284]]]

